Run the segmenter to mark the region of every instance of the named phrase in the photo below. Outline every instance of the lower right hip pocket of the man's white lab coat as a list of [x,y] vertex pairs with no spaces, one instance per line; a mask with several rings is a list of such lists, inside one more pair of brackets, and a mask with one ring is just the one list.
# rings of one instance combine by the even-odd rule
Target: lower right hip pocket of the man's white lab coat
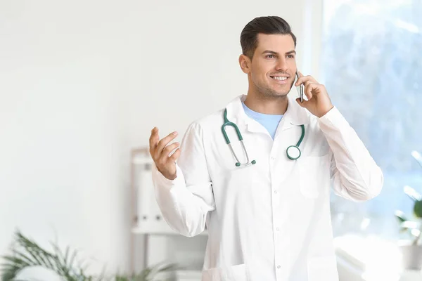
[[318,256],[307,264],[308,281],[338,281],[335,256]]

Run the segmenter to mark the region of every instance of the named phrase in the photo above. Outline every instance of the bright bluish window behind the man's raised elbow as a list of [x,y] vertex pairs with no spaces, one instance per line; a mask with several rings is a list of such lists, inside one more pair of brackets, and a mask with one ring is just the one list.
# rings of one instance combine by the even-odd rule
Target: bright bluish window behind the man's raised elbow
[[411,216],[404,185],[422,193],[422,1],[324,1],[321,73],[333,104],[384,172],[381,195],[333,197],[335,235],[397,238],[394,213]]

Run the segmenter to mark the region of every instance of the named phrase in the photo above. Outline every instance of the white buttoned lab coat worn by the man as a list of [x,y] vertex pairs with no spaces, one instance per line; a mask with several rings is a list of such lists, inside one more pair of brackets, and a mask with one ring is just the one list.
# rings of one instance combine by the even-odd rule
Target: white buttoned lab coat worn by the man
[[[381,192],[383,173],[334,107],[318,118],[288,98],[274,141],[243,110],[227,105],[250,160],[236,167],[222,134],[223,111],[193,122],[181,141],[177,178],[155,168],[155,195],[165,221],[188,237],[208,231],[203,281],[337,281],[330,187],[349,200]],[[302,156],[290,160],[305,124]],[[243,150],[227,129],[241,162]]]

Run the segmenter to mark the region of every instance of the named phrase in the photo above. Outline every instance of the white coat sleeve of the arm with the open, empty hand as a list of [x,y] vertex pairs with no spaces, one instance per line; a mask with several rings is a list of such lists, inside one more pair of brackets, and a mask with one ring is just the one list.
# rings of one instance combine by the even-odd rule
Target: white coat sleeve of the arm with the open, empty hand
[[207,214],[215,210],[200,125],[192,123],[181,141],[177,177],[170,181],[153,168],[155,198],[169,226],[192,237],[205,230]]

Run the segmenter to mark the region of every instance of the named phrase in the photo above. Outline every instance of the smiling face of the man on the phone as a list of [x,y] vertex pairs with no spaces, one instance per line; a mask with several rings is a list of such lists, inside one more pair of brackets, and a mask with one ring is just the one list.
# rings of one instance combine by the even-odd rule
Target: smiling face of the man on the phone
[[241,55],[249,91],[262,97],[286,97],[295,81],[296,52],[290,34],[258,34],[252,60]]

